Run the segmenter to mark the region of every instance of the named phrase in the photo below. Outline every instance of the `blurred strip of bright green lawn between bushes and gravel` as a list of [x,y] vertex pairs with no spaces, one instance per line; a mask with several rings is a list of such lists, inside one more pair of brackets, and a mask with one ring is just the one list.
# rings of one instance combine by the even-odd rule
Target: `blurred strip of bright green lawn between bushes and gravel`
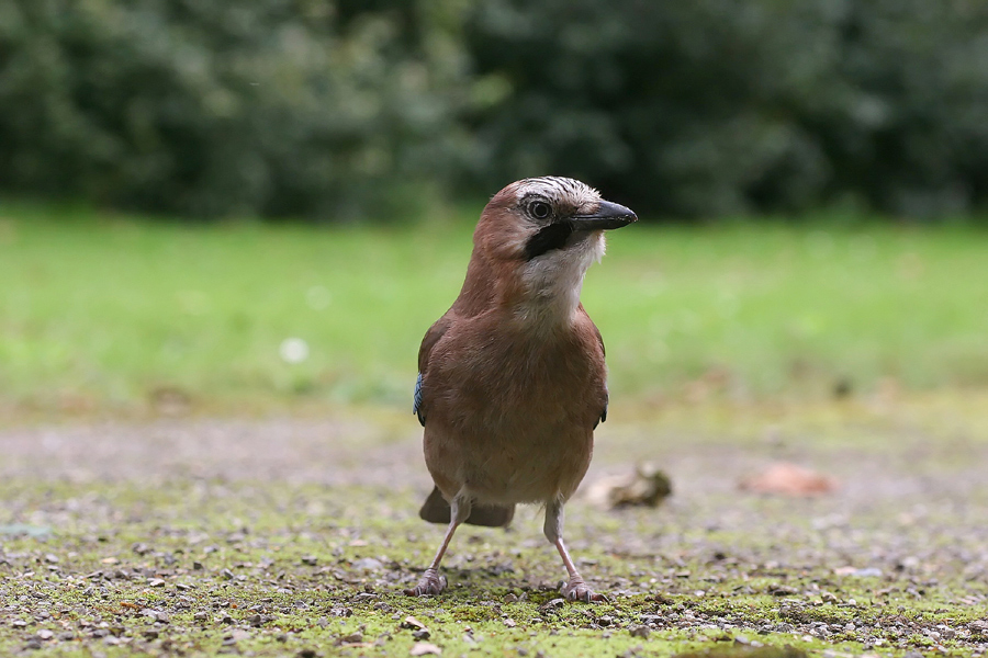
[[[0,207],[0,402],[406,405],[473,213],[391,229]],[[988,385],[988,240],[964,226],[639,225],[584,305],[613,394],[655,402]],[[301,338],[307,360],[279,349]],[[886,384],[887,385],[887,384]]]

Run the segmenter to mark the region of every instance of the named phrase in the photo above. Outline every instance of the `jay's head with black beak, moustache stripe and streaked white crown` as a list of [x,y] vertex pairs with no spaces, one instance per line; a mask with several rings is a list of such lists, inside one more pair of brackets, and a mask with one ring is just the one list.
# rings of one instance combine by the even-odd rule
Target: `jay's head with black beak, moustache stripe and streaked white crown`
[[475,256],[495,265],[515,295],[579,304],[583,276],[604,256],[604,231],[638,217],[580,181],[543,177],[494,195],[474,232]]

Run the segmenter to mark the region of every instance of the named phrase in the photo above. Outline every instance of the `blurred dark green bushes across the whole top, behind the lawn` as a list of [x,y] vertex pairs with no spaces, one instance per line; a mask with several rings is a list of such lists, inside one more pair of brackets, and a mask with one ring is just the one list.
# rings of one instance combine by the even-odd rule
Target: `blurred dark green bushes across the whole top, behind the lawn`
[[988,200],[975,0],[10,0],[0,190],[385,216],[575,175],[642,212]]

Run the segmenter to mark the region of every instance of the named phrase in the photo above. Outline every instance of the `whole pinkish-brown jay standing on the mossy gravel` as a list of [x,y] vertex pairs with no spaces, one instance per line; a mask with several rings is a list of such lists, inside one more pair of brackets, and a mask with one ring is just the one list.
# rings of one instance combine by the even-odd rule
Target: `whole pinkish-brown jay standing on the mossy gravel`
[[604,231],[637,222],[577,180],[529,178],[481,213],[460,294],[426,332],[413,411],[434,488],[419,510],[447,524],[408,595],[447,586],[440,563],[462,523],[507,526],[518,503],[544,507],[543,532],[562,558],[570,601],[598,601],[563,542],[563,506],[591,463],[607,419],[604,341],[580,302]]

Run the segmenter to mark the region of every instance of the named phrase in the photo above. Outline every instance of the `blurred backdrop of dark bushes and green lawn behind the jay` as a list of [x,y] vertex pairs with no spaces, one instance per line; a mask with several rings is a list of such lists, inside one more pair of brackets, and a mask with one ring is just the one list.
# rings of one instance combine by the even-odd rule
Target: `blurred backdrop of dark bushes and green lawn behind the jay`
[[10,0],[0,408],[407,406],[550,173],[628,404],[988,387],[983,2]]

